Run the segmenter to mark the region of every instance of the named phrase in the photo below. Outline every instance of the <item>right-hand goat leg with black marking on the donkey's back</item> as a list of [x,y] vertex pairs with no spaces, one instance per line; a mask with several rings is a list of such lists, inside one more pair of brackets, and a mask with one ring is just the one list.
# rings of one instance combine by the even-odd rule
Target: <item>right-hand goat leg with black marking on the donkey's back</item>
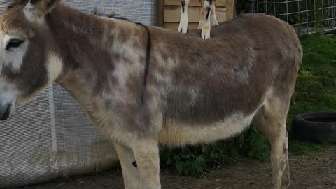
[[210,19],[211,19],[211,12],[213,10],[213,0],[205,0],[203,1],[202,4],[202,34],[201,37],[204,40],[208,40],[211,38],[210,36],[210,31],[211,31],[211,23],[210,23]]

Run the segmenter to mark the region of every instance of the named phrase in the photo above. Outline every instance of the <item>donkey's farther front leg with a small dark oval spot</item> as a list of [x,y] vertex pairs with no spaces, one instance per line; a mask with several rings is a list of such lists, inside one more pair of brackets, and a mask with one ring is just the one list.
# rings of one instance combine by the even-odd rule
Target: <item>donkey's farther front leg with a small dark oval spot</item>
[[113,143],[113,146],[116,149],[121,168],[123,169],[125,189],[140,188],[140,175],[132,149],[117,143]]

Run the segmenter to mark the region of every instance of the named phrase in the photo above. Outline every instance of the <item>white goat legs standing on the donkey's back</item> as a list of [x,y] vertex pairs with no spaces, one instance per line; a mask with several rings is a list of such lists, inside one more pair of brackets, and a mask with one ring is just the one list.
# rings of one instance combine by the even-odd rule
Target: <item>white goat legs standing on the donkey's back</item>
[[[198,29],[202,29],[201,37],[204,40],[211,38],[211,27],[218,26],[218,21],[216,18],[216,0],[200,0],[202,9],[201,9],[201,18]],[[190,0],[181,0],[181,19],[179,25],[179,32],[186,34],[188,32],[188,7]]]

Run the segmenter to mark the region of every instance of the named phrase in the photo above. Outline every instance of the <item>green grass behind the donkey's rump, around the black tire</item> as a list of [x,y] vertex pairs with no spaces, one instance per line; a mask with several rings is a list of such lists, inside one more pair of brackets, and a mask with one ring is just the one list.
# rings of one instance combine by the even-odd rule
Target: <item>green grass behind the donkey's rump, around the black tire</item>
[[[300,39],[304,52],[295,85],[295,100],[288,113],[288,130],[298,113],[336,111],[336,38],[306,36]],[[297,141],[290,136],[290,153],[304,155],[322,151],[328,144]]]

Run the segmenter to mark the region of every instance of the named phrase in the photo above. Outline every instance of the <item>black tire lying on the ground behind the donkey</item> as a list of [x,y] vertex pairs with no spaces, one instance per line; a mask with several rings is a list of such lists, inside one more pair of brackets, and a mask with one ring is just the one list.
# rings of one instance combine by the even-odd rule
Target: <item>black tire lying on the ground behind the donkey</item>
[[292,121],[292,134],[303,141],[336,144],[336,112],[298,114]]

